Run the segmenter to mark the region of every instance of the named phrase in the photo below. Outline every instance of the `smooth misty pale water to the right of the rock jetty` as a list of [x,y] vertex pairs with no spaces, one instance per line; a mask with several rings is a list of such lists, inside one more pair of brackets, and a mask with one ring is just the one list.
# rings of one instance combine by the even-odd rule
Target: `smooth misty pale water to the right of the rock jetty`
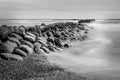
[[90,79],[120,80],[119,27],[96,27],[92,39],[72,42],[71,48],[48,55],[49,60]]

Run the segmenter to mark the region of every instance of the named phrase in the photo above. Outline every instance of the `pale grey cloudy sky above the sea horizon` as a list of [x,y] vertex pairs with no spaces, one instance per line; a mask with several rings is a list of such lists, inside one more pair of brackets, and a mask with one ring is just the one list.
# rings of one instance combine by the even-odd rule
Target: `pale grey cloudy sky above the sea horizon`
[[0,18],[119,19],[120,0],[0,0]]

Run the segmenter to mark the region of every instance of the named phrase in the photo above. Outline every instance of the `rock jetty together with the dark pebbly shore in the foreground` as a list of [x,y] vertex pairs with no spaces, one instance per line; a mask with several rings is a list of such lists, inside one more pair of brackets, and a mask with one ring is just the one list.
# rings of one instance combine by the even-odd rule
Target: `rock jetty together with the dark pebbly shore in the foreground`
[[53,65],[45,54],[86,40],[90,29],[73,22],[0,26],[0,80],[89,80]]

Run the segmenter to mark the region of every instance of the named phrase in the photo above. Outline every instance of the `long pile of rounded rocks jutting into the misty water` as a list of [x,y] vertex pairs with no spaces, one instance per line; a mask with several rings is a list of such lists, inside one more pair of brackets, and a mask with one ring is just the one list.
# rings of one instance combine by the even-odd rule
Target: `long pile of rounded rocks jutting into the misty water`
[[77,23],[54,23],[44,28],[0,26],[0,57],[23,60],[31,54],[45,54],[69,48],[73,40],[85,40],[88,29]]

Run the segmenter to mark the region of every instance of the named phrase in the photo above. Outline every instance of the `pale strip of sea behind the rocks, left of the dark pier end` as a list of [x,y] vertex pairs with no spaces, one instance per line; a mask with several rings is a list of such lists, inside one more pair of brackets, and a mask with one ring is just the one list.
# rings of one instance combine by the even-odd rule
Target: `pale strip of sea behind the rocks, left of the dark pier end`
[[41,23],[51,24],[57,22],[78,22],[78,20],[72,19],[0,19],[0,25],[9,25],[9,26],[34,26],[40,25]]

